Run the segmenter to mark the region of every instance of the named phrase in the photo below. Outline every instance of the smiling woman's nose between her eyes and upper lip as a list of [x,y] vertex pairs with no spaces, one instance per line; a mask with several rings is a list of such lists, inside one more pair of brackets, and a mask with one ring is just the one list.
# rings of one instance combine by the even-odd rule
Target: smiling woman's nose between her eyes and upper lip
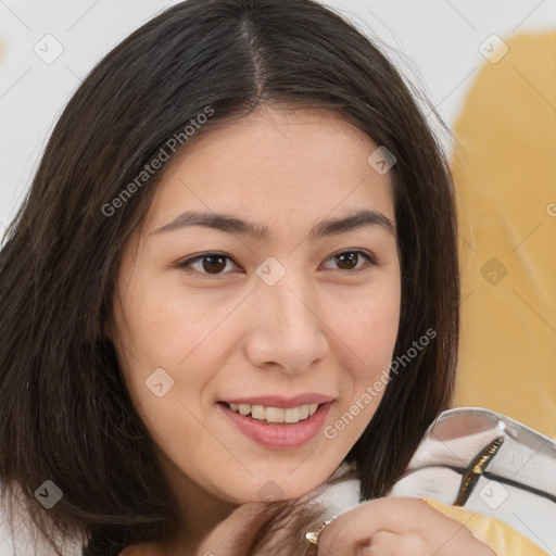
[[289,270],[274,286],[256,282],[251,295],[245,352],[252,365],[299,374],[329,353],[319,301],[311,278]]

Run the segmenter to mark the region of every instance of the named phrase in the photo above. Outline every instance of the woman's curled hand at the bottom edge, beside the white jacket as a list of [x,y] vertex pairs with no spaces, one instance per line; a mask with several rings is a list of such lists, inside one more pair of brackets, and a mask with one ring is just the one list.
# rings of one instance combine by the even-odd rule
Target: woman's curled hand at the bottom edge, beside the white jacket
[[465,526],[417,498],[359,504],[327,526],[318,556],[496,556]]

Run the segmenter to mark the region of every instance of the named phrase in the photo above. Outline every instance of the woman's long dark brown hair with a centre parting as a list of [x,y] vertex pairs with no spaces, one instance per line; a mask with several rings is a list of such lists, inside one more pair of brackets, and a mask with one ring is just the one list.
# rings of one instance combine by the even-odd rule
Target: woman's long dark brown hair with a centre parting
[[[175,151],[187,149],[184,130],[202,113],[212,111],[192,140],[269,102],[334,111],[396,159],[394,358],[426,330],[435,338],[404,362],[349,453],[362,496],[389,491],[450,404],[459,323],[454,191],[413,86],[362,30],[316,1],[179,3],[126,38],[79,86],[0,252],[2,496],[23,501],[56,554],[59,533],[83,533],[91,556],[106,556],[178,529],[178,502],[104,325],[122,248],[173,160],[168,141],[181,137]],[[153,170],[161,149],[168,160]],[[131,194],[123,200],[124,190]],[[63,492],[51,509],[35,496],[47,480]]]

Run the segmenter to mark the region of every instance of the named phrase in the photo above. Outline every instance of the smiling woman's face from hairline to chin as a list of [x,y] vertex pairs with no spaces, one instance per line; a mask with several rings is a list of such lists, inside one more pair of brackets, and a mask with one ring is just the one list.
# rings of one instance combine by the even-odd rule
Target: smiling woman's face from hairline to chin
[[377,409],[401,296],[377,147],[326,112],[266,108],[164,174],[125,245],[108,333],[184,496],[193,481],[232,504],[299,497]]

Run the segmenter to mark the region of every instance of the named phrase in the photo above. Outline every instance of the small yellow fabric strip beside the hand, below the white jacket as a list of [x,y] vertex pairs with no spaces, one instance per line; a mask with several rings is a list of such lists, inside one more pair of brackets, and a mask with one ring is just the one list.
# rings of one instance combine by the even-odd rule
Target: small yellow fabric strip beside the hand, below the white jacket
[[433,508],[465,525],[475,536],[484,541],[497,556],[549,556],[527,536],[492,517],[481,516],[468,509],[444,506],[433,500],[425,500]]

